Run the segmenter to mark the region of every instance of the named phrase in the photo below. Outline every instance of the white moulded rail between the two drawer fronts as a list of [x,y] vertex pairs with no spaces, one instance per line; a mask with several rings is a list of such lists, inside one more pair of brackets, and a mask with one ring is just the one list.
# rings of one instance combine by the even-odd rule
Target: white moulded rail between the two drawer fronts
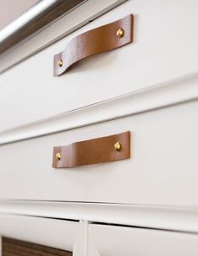
[[29,123],[0,132],[0,144],[8,144],[27,138],[81,128],[128,115],[137,115],[160,107],[198,99],[198,74],[183,76],[174,81],[164,81],[156,86],[134,91],[91,106]]

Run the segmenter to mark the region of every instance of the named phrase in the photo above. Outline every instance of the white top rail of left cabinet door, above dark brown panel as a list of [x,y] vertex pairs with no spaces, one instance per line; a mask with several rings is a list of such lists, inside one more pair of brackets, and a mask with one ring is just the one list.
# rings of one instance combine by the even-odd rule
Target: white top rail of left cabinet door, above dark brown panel
[[69,251],[73,250],[79,228],[78,222],[0,214],[2,236]]

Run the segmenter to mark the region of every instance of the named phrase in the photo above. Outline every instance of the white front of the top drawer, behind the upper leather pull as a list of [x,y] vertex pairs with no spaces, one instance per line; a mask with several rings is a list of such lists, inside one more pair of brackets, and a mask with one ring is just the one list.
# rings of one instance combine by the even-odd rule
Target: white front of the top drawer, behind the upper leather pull
[[[196,73],[196,7],[196,0],[130,0],[4,72],[1,131]],[[135,16],[133,44],[83,60],[53,77],[53,56],[70,39],[129,13]]]

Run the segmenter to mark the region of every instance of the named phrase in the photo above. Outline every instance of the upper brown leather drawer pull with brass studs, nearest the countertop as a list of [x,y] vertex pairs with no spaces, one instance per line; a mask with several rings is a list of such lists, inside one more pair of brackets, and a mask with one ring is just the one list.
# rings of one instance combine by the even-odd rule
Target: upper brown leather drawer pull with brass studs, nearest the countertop
[[133,14],[111,24],[89,30],[71,39],[64,51],[54,56],[54,76],[77,61],[133,42]]

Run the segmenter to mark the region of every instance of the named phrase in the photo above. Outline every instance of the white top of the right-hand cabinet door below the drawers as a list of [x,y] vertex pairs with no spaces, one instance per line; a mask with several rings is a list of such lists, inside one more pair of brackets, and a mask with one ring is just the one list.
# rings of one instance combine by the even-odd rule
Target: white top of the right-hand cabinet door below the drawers
[[196,256],[198,251],[198,236],[191,233],[89,225],[89,238],[102,256]]

